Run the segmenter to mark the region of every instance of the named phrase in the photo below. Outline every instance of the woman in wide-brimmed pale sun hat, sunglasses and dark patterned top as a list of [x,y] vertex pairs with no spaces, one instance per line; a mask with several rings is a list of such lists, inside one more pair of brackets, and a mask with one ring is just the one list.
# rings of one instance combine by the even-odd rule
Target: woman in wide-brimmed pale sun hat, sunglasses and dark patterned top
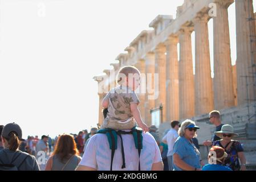
[[[243,154],[243,147],[238,140],[233,140],[234,137],[238,137],[238,134],[234,133],[233,127],[231,125],[223,125],[221,131],[216,131],[215,134],[221,140],[213,142],[213,146],[220,146],[227,153],[225,166],[231,168],[233,171],[246,171],[246,159]],[[239,159],[241,164],[239,163]]]

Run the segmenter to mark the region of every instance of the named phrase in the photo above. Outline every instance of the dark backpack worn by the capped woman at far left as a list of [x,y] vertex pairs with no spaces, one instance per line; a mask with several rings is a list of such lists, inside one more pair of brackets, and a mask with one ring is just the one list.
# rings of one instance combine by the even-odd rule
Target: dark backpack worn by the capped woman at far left
[[[3,150],[3,153],[6,155],[7,158],[7,153],[5,150]],[[17,154],[17,152],[15,152]],[[2,162],[0,159],[0,171],[19,171],[19,167],[25,162],[27,159],[27,156],[29,155],[22,155],[24,154],[23,152],[19,152],[17,156],[13,156],[13,159],[11,159],[11,162],[9,164],[5,164]]]

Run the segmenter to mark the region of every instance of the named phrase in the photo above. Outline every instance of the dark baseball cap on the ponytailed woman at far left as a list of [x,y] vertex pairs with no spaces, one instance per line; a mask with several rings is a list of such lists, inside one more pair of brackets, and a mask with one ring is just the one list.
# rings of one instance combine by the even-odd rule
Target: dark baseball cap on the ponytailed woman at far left
[[15,134],[17,134],[17,137],[19,140],[24,141],[25,139],[22,139],[22,130],[21,127],[19,127],[19,125],[17,125],[16,123],[9,123],[7,125],[5,125],[3,127],[2,130],[2,137],[9,139],[9,134],[11,132],[14,132]]

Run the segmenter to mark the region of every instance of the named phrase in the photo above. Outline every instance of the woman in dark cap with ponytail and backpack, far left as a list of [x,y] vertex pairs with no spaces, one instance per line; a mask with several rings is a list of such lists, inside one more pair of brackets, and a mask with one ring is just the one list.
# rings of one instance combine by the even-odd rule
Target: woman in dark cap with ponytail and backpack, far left
[[5,125],[1,138],[4,149],[0,151],[0,171],[40,171],[35,157],[19,150],[24,140],[19,125]]

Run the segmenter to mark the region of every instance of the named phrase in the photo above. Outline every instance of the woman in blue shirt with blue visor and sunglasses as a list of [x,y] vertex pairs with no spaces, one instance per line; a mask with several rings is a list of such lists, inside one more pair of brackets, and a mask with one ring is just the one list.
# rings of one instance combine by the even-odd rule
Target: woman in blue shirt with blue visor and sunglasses
[[192,138],[199,129],[190,119],[181,123],[176,142],[173,146],[174,171],[201,171],[200,152],[194,146]]

